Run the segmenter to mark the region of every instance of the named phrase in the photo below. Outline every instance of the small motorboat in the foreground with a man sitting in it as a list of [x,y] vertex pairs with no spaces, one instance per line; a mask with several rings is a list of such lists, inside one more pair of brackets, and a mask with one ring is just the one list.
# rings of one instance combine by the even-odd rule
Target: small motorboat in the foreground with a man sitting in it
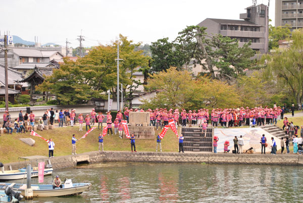
[[[0,191],[4,190],[11,183],[0,183]],[[65,196],[77,195],[91,187],[90,183],[72,183],[71,179],[67,179],[62,185],[62,188],[53,189],[53,185],[32,184],[33,197],[50,197],[50,196]],[[24,195],[26,184],[15,184],[12,189],[20,191]]]

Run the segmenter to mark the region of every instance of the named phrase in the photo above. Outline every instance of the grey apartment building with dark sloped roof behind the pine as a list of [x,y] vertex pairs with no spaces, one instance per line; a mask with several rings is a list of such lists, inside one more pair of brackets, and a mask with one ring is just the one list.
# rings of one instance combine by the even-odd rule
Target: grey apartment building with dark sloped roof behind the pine
[[[303,0],[302,0],[303,1]],[[207,27],[208,34],[221,34],[236,38],[239,46],[251,41],[251,48],[256,53],[268,52],[268,6],[264,4],[246,8],[246,13],[240,14],[242,20],[207,18],[198,25]]]

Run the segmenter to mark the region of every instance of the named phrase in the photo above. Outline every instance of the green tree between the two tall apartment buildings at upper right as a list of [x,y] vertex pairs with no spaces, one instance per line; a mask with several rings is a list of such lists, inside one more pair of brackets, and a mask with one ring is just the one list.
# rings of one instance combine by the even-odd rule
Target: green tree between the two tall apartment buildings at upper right
[[290,25],[272,26],[269,25],[269,49],[279,48],[279,40],[288,40],[290,38]]

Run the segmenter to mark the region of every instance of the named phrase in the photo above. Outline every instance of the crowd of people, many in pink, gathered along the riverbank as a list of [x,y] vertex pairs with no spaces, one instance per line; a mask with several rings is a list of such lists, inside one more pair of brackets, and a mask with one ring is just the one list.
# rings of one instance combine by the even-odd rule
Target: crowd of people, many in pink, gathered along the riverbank
[[[21,110],[19,113],[19,117],[15,119],[15,122],[12,123],[11,116],[8,111],[5,112],[3,115],[3,128],[7,129],[7,132],[12,134],[13,129],[16,129],[16,133],[25,133],[26,131],[33,130],[34,126],[38,124],[40,127],[40,130],[44,129],[44,126],[46,125],[54,125],[58,124],[59,127],[65,126],[74,126],[76,122],[79,123],[79,131],[83,131],[83,123],[85,122],[86,131],[91,129],[92,126],[97,124],[98,130],[103,130],[103,124],[105,123],[108,126],[107,134],[108,135],[115,135],[118,134],[120,138],[122,138],[123,134],[123,125],[121,123],[122,120],[129,121],[129,113],[130,112],[145,112],[143,109],[128,109],[127,107],[124,110],[124,113],[121,111],[117,112],[116,118],[113,119],[111,112],[106,112],[106,115],[104,115],[102,112],[96,112],[95,109],[92,109],[89,114],[83,115],[78,114],[76,115],[76,110],[72,109],[69,111],[68,109],[63,110],[56,110],[56,112],[53,110],[53,108],[46,110],[42,117],[39,117],[38,120],[35,120],[35,115],[31,111],[30,114],[24,114]],[[169,120],[174,120],[176,128],[178,126],[182,127],[192,127],[197,126],[201,127],[203,129],[203,132],[206,136],[206,130],[209,125],[213,128],[217,128],[219,125],[221,125],[223,128],[229,128],[229,127],[241,127],[243,125],[254,127],[254,126],[264,126],[264,125],[272,125],[277,124],[277,121],[283,120],[283,130],[285,130],[285,134],[288,135],[288,137],[283,138],[283,147],[286,146],[287,153],[289,153],[289,138],[292,138],[295,140],[293,143],[296,143],[295,136],[297,137],[299,126],[293,125],[292,122],[288,122],[288,118],[284,118],[285,107],[277,107],[276,104],[273,108],[268,108],[265,106],[262,107],[256,107],[256,108],[237,108],[237,109],[198,109],[198,110],[185,110],[185,109],[166,109],[166,108],[156,108],[155,110],[148,109],[146,112],[149,112],[149,125],[155,126],[155,128],[158,130],[158,128],[163,129],[165,125],[168,125]],[[294,115],[294,106],[292,105],[292,116]],[[114,133],[112,130],[112,125],[114,125]],[[302,128],[302,126],[301,126]],[[301,130],[301,137],[303,131]],[[179,152],[183,151],[183,136],[179,136]],[[265,138],[266,139],[266,138]],[[131,149],[132,151],[136,151],[135,148],[135,138],[131,137]],[[218,137],[215,137],[213,140],[213,146],[214,146],[214,153],[217,153],[217,143],[218,143]],[[76,154],[76,139],[74,138],[72,140],[73,144],[73,151],[72,154]],[[235,137],[233,139],[234,141],[234,151],[235,153],[239,154],[242,153],[242,145],[243,145],[243,139],[242,137],[237,138]],[[103,137],[99,136],[98,139],[99,142],[99,150],[102,147],[103,150]],[[264,154],[265,154],[265,143],[264,138],[261,138],[262,143],[262,154],[263,154],[263,148],[264,148]],[[272,141],[272,153],[275,154],[275,140]],[[298,141],[300,142],[300,140]],[[51,143],[51,144],[49,144]],[[49,157],[53,157],[54,153],[54,146],[55,143],[49,142]],[[158,146],[160,151],[162,151],[161,146],[161,138],[158,135],[157,136],[157,147],[156,151],[158,151]],[[281,146],[282,146],[282,140],[281,140]],[[299,145],[300,146],[300,145]],[[230,149],[229,142],[224,142],[224,153],[229,153]],[[134,148],[134,150],[133,150]],[[283,153],[284,148],[282,148]],[[295,150],[295,147],[294,147]],[[298,148],[296,153],[302,153],[303,151],[300,151],[301,149]],[[302,149],[303,150],[303,149]]]

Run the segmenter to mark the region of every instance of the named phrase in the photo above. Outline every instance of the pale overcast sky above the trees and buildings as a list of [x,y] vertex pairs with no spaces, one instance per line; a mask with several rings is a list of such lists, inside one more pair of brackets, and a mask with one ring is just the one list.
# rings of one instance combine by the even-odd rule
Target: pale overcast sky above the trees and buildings
[[[268,0],[258,0],[258,4]],[[150,43],[163,37],[173,40],[187,25],[206,18],[239,19],[251,0],[0,0],[0,31],[9,30],[24,40],[41,44],[76,47],[77,35],[85,36],[84,46],[107,44],[119,33],[135,42]],[[274,24],[275,1],[270,19]]]

